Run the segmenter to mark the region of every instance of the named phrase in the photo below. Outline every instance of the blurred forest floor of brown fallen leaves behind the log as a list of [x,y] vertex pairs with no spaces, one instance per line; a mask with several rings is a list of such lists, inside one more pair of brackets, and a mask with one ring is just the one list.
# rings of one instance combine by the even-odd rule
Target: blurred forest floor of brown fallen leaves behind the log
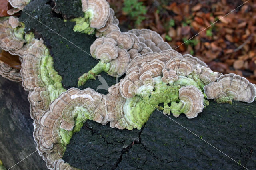
[[256,0],[108,2],[124,30],[154,30],[173,49],[198,57],[212,70],[256,83]]

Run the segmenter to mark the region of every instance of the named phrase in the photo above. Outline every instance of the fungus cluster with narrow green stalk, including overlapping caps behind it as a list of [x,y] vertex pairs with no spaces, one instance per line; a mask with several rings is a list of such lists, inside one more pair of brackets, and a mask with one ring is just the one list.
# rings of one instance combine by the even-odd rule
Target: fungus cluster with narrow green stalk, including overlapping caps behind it
[[[134,29],[132,32],[137,34],[139,31]],[[86,83],[88,79],[95,79],[102,71],[114,77],[121,77],[126,72],[131,59],[145,53],[172,49],[156,32],[143,29],[144,37],[137,37],[132,32],[112,30],[106,36],[96,39],[90,47],[90,53],[100,62],[88,73],[79,77],[78,86]],[[147,33],[151,36],[147,37]]]

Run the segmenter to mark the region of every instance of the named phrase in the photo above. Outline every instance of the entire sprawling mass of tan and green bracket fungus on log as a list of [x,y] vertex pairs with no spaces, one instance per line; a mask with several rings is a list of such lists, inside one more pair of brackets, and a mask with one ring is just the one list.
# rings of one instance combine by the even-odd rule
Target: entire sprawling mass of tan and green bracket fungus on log
[[[24,1],[25,2],[25,1]],[[157,108],[164,114],[188,118],[215,99],[252,102],[256,87],[244,77],[214,72],[199,59],[172,50],[154,31],[133,29],[120,32],[114,11],[105,0],[82,0],[84,18],[75,18],[74,31],[99,37],[90,47],[100,62],[79,78],[78,85],[105,71],[126,76],[100,94],[90,88],[62,87],[53,59],[42,39],[24,33],[24,24],[10,16],[0,18],[0,47],[19,55],[21,71],[0,61],[0,74],[20,80],[29,91],[30,115],[34,119],[37,150],[50,169],[76,169],[62,160],[67,144],[87,120],[110,127],[140,129]],[[24,38],[25,37],[25,38]],[[15,77],[15,76],[16,77]],[[161,103],[164,106],[159,106]]]

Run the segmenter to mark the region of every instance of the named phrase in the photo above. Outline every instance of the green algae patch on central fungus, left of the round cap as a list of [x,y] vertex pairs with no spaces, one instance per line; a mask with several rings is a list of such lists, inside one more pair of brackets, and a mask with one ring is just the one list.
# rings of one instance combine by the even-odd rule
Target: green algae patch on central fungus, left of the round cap
[[[150,115],[155,110],[155,107],[160,103],[164,103],[164,111],[168,112],[168,103],[178,100],[179,86],[168,86],[161,81],[160,76],[154,77],[154,91],[148,98],[136,95],[130,99],[126,99],[124,103],[124,118],[127,122],[124,125],[128,130],[137,128],[138,130],[148,121]],[[170,114],[167,113],[167,114]]]

